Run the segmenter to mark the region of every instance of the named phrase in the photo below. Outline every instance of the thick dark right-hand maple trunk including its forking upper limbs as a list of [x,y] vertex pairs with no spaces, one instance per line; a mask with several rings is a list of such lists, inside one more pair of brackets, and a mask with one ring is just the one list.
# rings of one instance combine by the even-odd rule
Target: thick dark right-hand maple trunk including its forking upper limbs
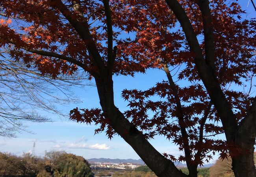
[[[226,140],[229,143],[233,143],[239,148],[247,150],[247,155],[242,154],[238,158],[232,158],[233,171],[236,177],[256,177],[256,170],[253,163],[253,151],[255,144],[256,134],[256,101],[252,105],[252,109],[239,126],[235,114],[232,111],[232,107],[226,100],[226,96],[223,93],[219,85],[219,81],[215,76],[214,70],[214,42],[212,38],[211,20],[210,20],[210,8],[208,1],[197,1],[200,10],[202,12],[202,18],[204,23],[204,35],[206,44],[206,55],[203,56],[201,48],[199,46],[197,35],[193,30],[191,22],[186,15],[183,7],[177,0],[166,0],[168,6],[172,9],[176,17],[178,18],[182,29],[186,35],[187,42],[191,52],[196,54],[195,65],[197,66],[198,74],[202,79],[206,90],[213,102],[217,112],[221,118],[223,129],[226,135]],[[209,37],[210,35],[210,37]],[[238,129],[238,130],[237,130]],[[230,153],[236,153],[235,149],[229,149]]]

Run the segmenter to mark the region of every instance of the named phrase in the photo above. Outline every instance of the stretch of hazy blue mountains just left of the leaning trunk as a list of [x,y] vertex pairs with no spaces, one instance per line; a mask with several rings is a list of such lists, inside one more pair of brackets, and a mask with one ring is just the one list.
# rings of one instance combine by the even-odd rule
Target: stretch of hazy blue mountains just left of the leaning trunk
[[139,164],[139,165],[144,165],[145,163],[143,162],[143,160],[139,159],[139,160],[134,160],[134,159],[105,159],[105,158],[100,158],[100,159],[87,159],[89,163],[92,162],[100,162],[100,163],[132,163],[132,164]]

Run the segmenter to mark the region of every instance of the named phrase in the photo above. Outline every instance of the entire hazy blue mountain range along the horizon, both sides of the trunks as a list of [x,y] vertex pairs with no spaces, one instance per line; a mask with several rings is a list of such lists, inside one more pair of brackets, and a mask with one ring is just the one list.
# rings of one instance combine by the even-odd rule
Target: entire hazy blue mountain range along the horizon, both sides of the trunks
[[[132,164],[138,164],[138,165],[145,165],[145,163],[143,162],[143,160],[139,159],[139,160],[134,160],[134,159],[105,159],[105,158],[100,158],[100,159],[87,159],[89,163],[93,163],[93,162],[100,162],[100,163],[132,163]],[[180,162],[174,162],[174,165],[178,168],[183,168],[183,167],[187,167],[186,164],[182,164]],[[208,168],[213,166],[213,164],[204,164],[204,166],[200,167],[198,166],[198,168]]]

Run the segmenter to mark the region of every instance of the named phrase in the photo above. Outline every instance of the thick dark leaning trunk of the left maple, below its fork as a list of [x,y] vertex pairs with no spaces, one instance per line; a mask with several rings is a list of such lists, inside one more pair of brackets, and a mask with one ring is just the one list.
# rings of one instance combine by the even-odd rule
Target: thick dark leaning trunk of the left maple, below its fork
[[112,79],[95,78],[100,105],[111,127],[135,150],[158,177],[186,177],[171,160],[159,153],[114,105]]

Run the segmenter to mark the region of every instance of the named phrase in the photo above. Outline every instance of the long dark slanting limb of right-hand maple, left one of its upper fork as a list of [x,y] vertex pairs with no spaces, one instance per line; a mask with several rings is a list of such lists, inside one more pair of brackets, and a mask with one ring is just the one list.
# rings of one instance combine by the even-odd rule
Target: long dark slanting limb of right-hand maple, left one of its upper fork
[[223,128],[227,141],[234,142],[236,135],[236,118],[232,111],[232,107],[226,100],[226,97],[219,85],[219,81],[215,75],[215,72],[211,69],[210,65],[207,65],[202,51],[200,49],[197,36],[193,30],[192,24],[186,15],[186,12],[177,0],[165,0],[168,6],[172,9],[176,17],[178,18],[182,29],[186,35],[187,42],[191,52],[195,53],[195,65],[198,70],[198,74],[202,79],[206,90],[213,102],[213,105],[217,109],[217,112],[221,118]]

